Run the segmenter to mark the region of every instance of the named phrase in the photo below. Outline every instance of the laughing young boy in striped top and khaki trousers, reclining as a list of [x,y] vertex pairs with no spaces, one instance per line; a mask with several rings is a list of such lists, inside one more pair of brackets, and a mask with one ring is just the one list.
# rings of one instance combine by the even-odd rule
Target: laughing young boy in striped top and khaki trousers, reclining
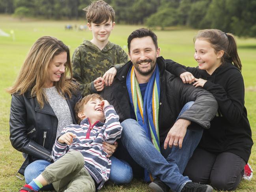
[[119,116],[98,94],[78,101],[75,113],[80,125],[65,127],[56,138],[52,148],[55,162],[20,192],[36,192],[50,183],[57,192],[94,192],[108,180],[111,160],[103,151],[102,142],[114,144],[121,137]]

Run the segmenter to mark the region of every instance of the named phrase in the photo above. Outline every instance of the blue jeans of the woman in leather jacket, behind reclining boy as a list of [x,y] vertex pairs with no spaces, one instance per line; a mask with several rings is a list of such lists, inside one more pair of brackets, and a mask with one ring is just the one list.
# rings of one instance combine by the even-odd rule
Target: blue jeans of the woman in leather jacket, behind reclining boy
[[[112,164],[109,179],[116,184],[127,184],[133,179],[133,170],[131,166],[124,160],[119,160],[116,157],[110,157]],[[38,175],[45,170],[51,163],[46,160],[36,160],[30,163],[25,169],[25,181],[30,183]],[[43,190],[52,190],[53,186],[47,185],[42,188]]]

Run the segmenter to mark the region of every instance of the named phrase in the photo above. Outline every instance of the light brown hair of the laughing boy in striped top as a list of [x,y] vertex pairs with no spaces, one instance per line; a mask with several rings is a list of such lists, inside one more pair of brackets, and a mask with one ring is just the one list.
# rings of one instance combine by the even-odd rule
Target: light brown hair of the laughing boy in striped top
[[97,93],[93,93],[91,95],[87,95],[84,98],[82,98],[80,101],[78,101],[75,105],[75,114],[76,114],[76,119],[77,119],[77,123],[80,124],[82,119],[80,119],[80,117],[78,117],[78,113],[82,112],[84,110],[84,105],[86,103],[88,103],[88,101],[93,100],[93,99],[99,99],[99,100],[103,100],[103,97],[101,97],[101,95],[97,94]]

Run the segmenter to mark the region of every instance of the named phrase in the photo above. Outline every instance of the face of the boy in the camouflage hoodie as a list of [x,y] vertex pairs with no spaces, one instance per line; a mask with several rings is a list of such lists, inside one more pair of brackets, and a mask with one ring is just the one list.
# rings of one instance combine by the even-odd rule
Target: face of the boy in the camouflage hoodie
[[112,22],[111,19],[108,19],[107,22],[102,22],[101,24],[96,23],[87,23],[87,26],[90,31],[92,31],[93,41],[99,43],[107,43],[108,37],[113,30],[115,22]]

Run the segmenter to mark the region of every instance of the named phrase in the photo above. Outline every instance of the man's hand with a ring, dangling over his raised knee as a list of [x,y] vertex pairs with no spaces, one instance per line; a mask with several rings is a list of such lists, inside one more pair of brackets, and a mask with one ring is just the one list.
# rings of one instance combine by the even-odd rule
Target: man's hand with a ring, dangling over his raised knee
[[182,142],[187,132],[187,127],[191,124],[191,121],[186,119],[178,119],[172,128],[169,130],[165,140],[164,149],[167,149],[167,145],[172,148],[172,145],[181,149]]

